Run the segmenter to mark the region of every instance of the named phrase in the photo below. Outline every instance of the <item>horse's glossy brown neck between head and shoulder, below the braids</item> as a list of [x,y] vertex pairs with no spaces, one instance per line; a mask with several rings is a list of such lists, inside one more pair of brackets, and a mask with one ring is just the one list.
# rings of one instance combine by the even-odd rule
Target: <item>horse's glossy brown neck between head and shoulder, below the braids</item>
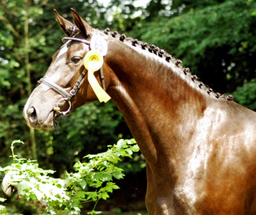
[[117,77],[111,97],[145,158],[159,162],[159,156],[172,158],[182,147],[179,142],[186,142],[196,117],[204,111],[205,96],[173,71],[174,64],[139,52],[118,48],[109,60]]

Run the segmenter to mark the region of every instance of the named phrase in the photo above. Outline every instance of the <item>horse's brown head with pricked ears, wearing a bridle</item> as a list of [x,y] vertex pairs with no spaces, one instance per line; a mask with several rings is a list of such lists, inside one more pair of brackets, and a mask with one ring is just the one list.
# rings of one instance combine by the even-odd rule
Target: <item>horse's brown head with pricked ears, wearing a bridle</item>
[[[84,68],[84,57],[90,50],[90,40],[93,34],[97,34],[97,30],[89,26],[76,11],[71,11],[76,25],[54,11],[68,37],[64,38],[64,45],[52,56],[49,69],[44,78],[38,81],[38,86],[24,107],[24,117],[28,126],[33,128],[51,128],[58,115],[67,114],[70,110],[97,99],[88,82],[88,70]],[[102,70],[95,73],[99,79],[97,84],[102,84],[100,72]]]

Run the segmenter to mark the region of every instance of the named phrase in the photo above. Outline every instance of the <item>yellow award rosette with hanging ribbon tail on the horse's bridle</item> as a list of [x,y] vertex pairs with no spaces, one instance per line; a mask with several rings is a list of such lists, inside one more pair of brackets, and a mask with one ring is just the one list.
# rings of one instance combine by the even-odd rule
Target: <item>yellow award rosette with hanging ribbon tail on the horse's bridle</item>
[[84,67],[88,70],[88,82],[92,86],[94,93],[100,102],[108,102],[111,97],[100,87],[99,82],[94,76],[94,72],[98,71],[103,65],[103,56],[97,50],[90,50],[84,57]]

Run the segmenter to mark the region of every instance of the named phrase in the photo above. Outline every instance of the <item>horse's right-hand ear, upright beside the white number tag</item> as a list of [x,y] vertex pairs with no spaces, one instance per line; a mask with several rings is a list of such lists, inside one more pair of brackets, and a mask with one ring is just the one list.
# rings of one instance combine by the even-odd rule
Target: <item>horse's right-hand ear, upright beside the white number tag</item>
[[93,28],[79,16],[76,10],[70,8],[74,22],[85,38],[92,36]]

